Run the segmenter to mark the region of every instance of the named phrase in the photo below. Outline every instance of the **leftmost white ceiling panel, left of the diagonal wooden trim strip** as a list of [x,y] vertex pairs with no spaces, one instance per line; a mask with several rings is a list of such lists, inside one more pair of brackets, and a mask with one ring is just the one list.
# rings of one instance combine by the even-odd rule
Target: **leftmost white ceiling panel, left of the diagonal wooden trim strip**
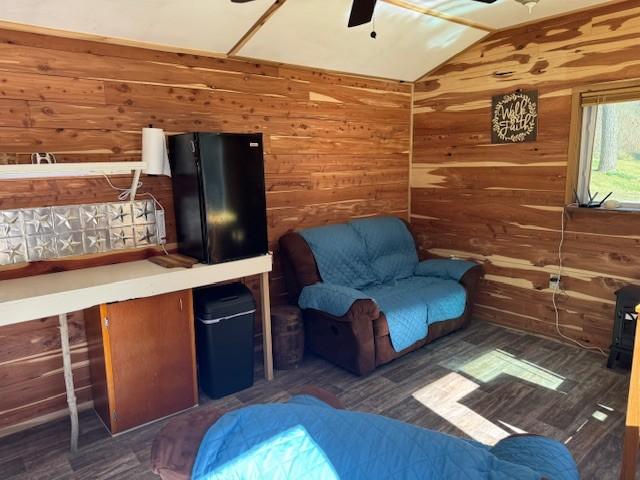
[[272,4],[273,0],[0,0],[0,20],[226,53]]

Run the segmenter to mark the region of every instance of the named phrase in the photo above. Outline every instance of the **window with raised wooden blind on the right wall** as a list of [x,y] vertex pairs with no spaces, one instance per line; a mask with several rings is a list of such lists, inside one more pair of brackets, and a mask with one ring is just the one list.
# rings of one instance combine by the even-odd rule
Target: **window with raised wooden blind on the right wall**
[[640,88],[582,92],[575,194],[640,209]]

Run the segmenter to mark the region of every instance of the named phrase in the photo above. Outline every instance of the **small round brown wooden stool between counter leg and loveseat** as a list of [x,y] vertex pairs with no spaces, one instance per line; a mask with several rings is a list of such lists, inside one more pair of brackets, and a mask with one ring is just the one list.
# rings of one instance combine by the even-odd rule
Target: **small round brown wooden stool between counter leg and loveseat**
[[304,355],[302,312],[292,305],[271,309],[273,366],[278,370],[297,368]]

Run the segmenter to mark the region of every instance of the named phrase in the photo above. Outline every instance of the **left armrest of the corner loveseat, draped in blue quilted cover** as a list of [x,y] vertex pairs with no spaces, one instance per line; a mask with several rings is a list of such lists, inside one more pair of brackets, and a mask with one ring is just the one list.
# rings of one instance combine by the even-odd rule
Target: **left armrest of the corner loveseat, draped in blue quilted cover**
[[303,288],[298,305],[303,310],[311,308],[328,313],[338,320],[350,321],[363,316],[373,320],[380,316],[375,301],[361,291],[323,282]]

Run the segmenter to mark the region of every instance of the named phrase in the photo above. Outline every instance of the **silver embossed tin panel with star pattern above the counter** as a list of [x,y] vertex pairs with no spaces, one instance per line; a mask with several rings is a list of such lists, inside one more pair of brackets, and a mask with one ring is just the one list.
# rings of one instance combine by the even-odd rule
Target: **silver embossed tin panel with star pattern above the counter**
[[0,210],[0,265],[158,245],[153,200]]

